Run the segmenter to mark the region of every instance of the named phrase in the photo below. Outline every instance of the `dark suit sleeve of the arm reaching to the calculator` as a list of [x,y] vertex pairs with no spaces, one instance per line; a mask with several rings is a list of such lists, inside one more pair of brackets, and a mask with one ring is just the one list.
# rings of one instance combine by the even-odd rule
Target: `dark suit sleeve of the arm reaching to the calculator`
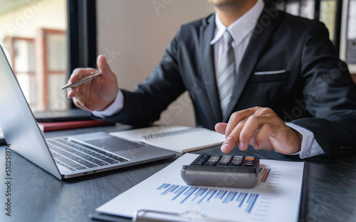
[[305,107],[311,118],[293,120],[313,132],[326,156],[356,153],[356,86],[335,53],[323,23],[305,36],[301,58]]

